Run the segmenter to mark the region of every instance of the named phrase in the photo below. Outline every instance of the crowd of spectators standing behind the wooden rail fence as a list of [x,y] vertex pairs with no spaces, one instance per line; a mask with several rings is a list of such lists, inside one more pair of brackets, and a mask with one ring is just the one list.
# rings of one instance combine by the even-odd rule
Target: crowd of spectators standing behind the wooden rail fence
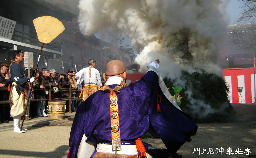
[[[1,64],[1,74],[0,74],[0,87],[11,87],[12,83],[9,83],[9,74],[8,74],[9,65]],[[28,71],[29,74],[28,75]],[[69,97],[69,92],[59,91],[59,88],[71,88],[78,89],[80,91],[72,92],[71,97],[79,97],[83,83],[77,85],[77,79],[74,78],[76,75],[76,71],[68,70],[67,72],[60,71],[56,73],[54,69],[47,70],[45,68],[35,70],[35,68],[28,68],[25,69],[26,75],[29,77],[35,77],[33,83],[30,85],[33,86],[31,95],[30,95],[30,104],[29,104],[29,117],[36,118],[36,117],[47,117],[47,101],[34,101],[35,99],[51,99],[53,98],[66,98]],[[49,96],[50,88],[49,83],[51,83],[51,87],[53,89],[51,96]],[[40,90],[34,90],[40,89]],[[0,92],[0,100],[9,100],[10,91],[2,91]],[[72,112],[76,111],[77,106],[80,104],[78,100],[71,101],[71,110]],[[1,123],[12,121],[13,118],[10,117],[10,105],[7,104],[0,104],[0,120]],[[66,113],[69,111],[69,101],[66,101]]]

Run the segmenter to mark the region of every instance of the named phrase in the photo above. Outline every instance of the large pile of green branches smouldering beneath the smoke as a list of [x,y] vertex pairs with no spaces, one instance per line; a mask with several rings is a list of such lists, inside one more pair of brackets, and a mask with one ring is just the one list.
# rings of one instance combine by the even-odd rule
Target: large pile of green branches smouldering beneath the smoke
[[[234,116],[236,116],[236,112],[228,100],[227,92],[229,92],[229,90],[227,84],[220,76],[207,72],[194,72],[189,74],[186,71],[182,71],[182,76],[182,80],[186,80],[187,82],[183,87],[177,87],[183,88],[179,94],[182,97],[180,100],[180,108],[196,122],[225,122],[231,121]],[[167,87],[170,87],[169,92],[174,96],[172,87],[174,87],[173,83],[175,83],[175,80],[172,82],[170,79],[164,78],[164,83]],[[205,105],[210,105],[216,112],[210,113],[204,117],[199,117],[200,114],[195,113],[194,109],[191,108],[192,103],[188,93],[185,93],[188,90],[192,92],[191,98],[203,101]],[[195,104],[195,106],[197,106],[197,104]],[[206,110],[204,106],[198,108],[200,108],[199,110],[201,112]]]

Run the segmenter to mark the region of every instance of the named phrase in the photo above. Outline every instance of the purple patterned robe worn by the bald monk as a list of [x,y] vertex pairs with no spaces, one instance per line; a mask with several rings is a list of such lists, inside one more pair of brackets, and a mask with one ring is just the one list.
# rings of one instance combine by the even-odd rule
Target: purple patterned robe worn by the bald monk
[[[161,96],[161,103],[158,102],[161,113],[157,112],[157,93]],[[197,125],[165,97],[153,71],[148,71],[140,81],[123,87],[116,95],[121,141],[140,138],[147,133],[151,123],[151,130],[157,132],[174,155],[191,135],[196,134]],[[83,135],[86,141],[94,144],[111,142],[109,92],[98,90],[78,106],[70,132],[69,158],[77,157]]]

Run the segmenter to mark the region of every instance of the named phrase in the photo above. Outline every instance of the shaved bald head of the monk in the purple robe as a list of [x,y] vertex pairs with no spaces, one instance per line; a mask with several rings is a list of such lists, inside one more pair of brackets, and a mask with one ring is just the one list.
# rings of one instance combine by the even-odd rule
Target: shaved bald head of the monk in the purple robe
[[111,60],[106,64],[105,75],[115,76],[120,75],[126,71],[124,63],[120,60]]

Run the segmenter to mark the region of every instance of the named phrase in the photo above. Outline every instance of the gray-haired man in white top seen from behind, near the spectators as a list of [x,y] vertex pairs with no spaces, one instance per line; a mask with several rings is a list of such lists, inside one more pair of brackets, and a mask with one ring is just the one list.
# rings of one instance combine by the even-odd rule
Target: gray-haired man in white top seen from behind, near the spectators
[[[76,73],[75,77],[77,79],[77,85],[84,81],[84,87],[81,91],[83,101],[102,86],[100,72],[95,69],[96,61],[94,59],[90,59],[88,64],[89,67],[80,70],[78,73]],[[82,96],[80,95],[79,100]]]

